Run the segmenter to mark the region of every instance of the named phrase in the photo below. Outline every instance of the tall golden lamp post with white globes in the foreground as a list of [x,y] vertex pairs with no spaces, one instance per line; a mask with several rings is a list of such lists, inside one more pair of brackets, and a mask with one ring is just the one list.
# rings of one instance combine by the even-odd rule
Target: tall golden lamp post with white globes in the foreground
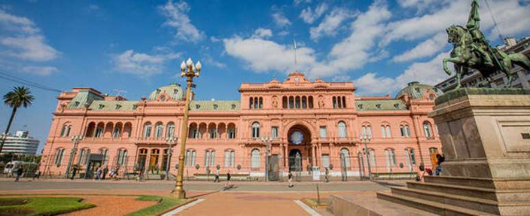
[[201,62],[197,62],[193,66],[191,58],[188,58],[188,61],[184,61],[180,64],[180,75],[181,77],[187,77],[186,82],[186,105],[184,105],[184,117],[182,117],[182,129],[180,133],[180,155],[179,155],[179,170],[177,174],[177,183],[175,184],[175,189],[173,190],[173,195],[179,199],[186,198],[186,191],[182,187],[182,179],[184,178],[184,157],[186,155],[186,138],[188,137],[188,111],[190,110],[190,96],[191,96],[191,87],[193,83],[193,77],[199,77],[201,72]]

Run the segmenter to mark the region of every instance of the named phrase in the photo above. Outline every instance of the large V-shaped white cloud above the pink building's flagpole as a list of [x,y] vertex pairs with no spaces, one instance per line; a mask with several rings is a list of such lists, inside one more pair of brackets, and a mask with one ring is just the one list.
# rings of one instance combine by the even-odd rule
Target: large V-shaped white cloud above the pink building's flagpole
[[[351,23],[351,36],[333,46],[325,61],[318,61],[316,52],[300,46],[296,49],[298,66],[294,66],[294,51],[290,44],[278,44],[262,38],[234,36],[223,40],[225,52],[242,59],[255,72],[292,72],[296,68],[308,77],[332,77],[343,75],[346,70],[364,66],[371,59],[378,59],[386,52],[377,50],[375,39],[384,30],[383,22],[390,18],[387,5],[377,1],[367,12],[359,14]],[[299,43],[303,44],[303,43]]]

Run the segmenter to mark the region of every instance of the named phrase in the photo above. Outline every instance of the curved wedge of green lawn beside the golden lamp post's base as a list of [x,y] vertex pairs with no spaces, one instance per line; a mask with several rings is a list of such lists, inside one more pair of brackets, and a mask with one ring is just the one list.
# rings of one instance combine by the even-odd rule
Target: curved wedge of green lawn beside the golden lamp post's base
[[180,200],[175,198],[162,197],[157,195],[141,195],[136,200],[142,201],[156,201],[157,204],[149,206],[147,208],[142,208],[139,211],[134,213],[129,213],[127,216],[139,216],[139,215],[157,215],[167,211],[169,208],[175,207],[177,205],[185,204],[190,202],[190,200]]

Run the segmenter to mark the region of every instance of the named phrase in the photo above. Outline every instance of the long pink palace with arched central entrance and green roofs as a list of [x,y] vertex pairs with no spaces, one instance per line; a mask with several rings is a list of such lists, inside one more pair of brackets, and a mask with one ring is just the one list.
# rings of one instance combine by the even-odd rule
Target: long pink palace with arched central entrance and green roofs
[[[395,98],[356,96],[355,90],[350,82],[310,81],[294,72],[283,82],[242,83],[240,101],[193,100],[184,173],[219,167],[222,174],[264,176],[268,167],[270,179],[277,179],[288,170],[310,174],[312,167],[328,167],[333,176],[367,176],[368,163],[379,176],[416,172],[420,163],[433,167],[441,143],[427,113],[438,90],[417,82]],[[166,170],[170,158],[176,174],[184,93],[178,84],[142,100],[87,87],[62,92],[40,169],[64,175],[68,164],[77,164],[83,174],[103,164],[118,165],[121,174],[153,173]],[[371,137],[368,157],[363,134]],[[83,136],[77,146],[74,135]]]

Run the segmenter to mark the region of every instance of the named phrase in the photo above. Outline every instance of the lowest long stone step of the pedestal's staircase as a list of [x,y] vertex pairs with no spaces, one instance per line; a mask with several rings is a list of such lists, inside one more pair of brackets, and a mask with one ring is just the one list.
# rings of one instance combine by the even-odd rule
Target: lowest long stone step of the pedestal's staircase
[[477,211],[470,208],[463,208],[450,204],[443,204],[421,198],[415,198],[408,195],[400,195],[388,191],[377,192],[377,198],[390,202],[403,204],[422,211],[428,211],[438,215],[494,215],[483,211]]

